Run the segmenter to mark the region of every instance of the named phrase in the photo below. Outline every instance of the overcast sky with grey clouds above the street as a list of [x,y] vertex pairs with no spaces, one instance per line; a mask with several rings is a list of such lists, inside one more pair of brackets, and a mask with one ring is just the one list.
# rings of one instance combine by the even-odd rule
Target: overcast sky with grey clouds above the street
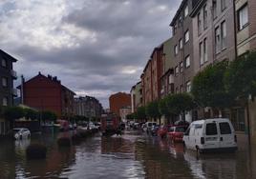
[[[27,79],[58,76],[108,108],[129,92],[150,53],[171,36],[181,0],[0,0],[0,49]],[[16,84],[18,84],[18,79]]]

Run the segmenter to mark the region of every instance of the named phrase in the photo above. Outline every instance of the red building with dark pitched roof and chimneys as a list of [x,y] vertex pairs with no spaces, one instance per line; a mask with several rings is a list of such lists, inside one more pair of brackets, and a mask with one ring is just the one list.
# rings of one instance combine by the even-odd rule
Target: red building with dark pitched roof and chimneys
[[74,114],[75,92],[61,85],[57,77],[38,73],[18,87],[22,103],[38,110],[52,110],[58,117],[69,118]]

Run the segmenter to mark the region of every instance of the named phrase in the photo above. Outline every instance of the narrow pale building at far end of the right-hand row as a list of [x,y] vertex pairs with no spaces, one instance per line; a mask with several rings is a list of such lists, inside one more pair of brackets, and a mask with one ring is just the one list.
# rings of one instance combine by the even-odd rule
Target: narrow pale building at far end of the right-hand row
[[141,82],[138,82],[135,86],[132,87],[131,91],[131,109],[132,113],[137,111],[139,107],[142,106],[142,89]]

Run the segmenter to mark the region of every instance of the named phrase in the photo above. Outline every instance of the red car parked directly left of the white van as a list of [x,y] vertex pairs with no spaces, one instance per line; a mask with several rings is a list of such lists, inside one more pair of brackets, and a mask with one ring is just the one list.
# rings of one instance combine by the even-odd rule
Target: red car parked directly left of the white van
[[168,129],[168,137],[172,142],[182,142],[187,126],[172,126]]

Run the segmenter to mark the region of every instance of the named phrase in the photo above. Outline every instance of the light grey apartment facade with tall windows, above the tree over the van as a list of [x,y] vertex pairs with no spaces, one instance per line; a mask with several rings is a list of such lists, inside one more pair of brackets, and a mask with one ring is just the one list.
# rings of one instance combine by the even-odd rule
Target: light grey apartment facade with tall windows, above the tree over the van
[[191,17],[195,73],[214,62],[236,58],[233,0],[200,0]]

